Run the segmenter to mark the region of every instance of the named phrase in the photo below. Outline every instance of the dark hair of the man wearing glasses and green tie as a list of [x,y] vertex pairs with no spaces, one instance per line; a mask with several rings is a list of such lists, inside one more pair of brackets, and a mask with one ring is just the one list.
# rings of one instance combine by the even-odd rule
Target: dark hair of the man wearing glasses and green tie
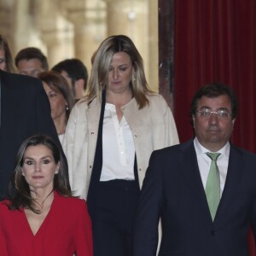
[[191,102],[190,115],[195,115],[197,102],[199,99],[201,99],[202,96],[215,98],[222,95],[229,96],[232,108],[232,119],[235,119],[238,108],[235,92],[230,88],[230,86],[222,83],[211,83],[202,86],[201,89],[198,90],[193,97],[193,100]]

